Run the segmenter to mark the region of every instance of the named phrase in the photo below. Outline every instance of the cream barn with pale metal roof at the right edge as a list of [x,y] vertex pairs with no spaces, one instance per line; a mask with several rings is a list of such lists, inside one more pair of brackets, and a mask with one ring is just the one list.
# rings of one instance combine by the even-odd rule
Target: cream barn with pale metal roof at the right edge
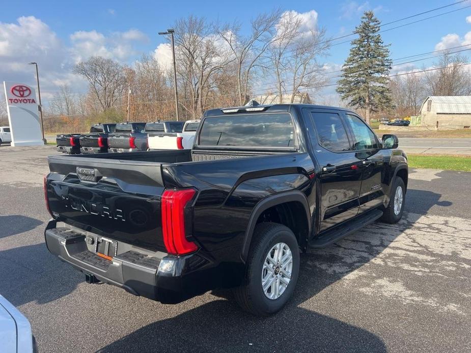
[[471,96],[430,96],[420,108],[420,125],[463,129],[471,127]]

